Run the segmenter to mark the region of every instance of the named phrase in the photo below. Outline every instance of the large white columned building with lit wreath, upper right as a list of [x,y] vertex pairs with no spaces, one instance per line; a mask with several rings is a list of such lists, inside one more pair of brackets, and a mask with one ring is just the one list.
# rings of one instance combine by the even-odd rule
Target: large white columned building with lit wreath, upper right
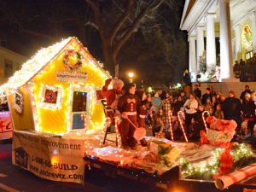
[[189,72],[199,73],[204,50],[207,72],[216,69],[219,38],[219,78],[232,81],[235,61],[256,53],[256,0],[186,0],[180,29],[189,36]]

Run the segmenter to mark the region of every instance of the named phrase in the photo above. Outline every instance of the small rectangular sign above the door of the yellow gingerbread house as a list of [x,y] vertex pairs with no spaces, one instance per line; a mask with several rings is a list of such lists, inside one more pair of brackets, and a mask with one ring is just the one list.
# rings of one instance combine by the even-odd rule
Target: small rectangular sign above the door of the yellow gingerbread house
[[57,72],[57,81],[84,82],[87,81],[87,73]]

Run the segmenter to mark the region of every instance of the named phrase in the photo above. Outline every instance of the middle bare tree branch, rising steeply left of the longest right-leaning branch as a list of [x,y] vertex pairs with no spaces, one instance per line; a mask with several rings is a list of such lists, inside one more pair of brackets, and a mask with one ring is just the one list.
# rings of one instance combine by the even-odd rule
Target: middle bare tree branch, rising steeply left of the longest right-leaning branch
[[119,29],[121,28],[121,26],[123,26],[123,24],[125,23],[125,20],[127,20],[129,18],[129,15],[131,13],[131,8],[132,8],[133,4],[134,4],[134,0],[129,0],[129,2],[127,3],[127,7],[125,9],[124,14],[115,23],[115,25],[113,27],[113,31],[111,32],[111,34],[109,36],[109,41],[110,41],[111,45],[113,44],[113,38],[116,36],[116,34],[119,31]]

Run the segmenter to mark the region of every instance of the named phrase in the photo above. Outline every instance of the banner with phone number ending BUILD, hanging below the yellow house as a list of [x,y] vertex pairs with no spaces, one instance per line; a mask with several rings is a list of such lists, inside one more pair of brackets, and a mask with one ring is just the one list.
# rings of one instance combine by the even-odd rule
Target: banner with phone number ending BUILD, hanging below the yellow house
[[14,131],[12,161],[53,181],[84,183],[84,140]]

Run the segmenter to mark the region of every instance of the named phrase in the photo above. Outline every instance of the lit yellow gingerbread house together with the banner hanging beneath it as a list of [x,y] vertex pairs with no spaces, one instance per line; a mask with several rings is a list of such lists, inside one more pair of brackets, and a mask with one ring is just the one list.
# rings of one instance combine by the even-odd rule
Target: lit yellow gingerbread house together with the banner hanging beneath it
[[[105,116],[97,93],[109,78],[77,38],[41,49],[26,61],[0,86],[15,130],[13,163],[40,177],[83,183],[84,166],[78,164],[84,165],[84,137],[62,135],[102,128]],[[72,175],[77,170],[81,174]],[[64,179],[51,174],[67,171]]]

